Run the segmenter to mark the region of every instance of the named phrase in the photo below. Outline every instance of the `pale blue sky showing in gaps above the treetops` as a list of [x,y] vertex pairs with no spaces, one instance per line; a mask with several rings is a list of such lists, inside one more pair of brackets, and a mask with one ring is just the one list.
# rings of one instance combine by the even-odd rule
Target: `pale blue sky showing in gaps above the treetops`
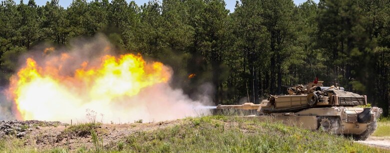
[[[16,3],[19,3],[20,2],[20,0],[14,0]],[[37,4],[37,5],[44,5],[45,3],[46,3],[46,1],[50,1],[50,0],[35,0],[35,3]],[[91,1],[91,0],[88,0],[88,1]],[[109,0],[109,1],[111,1],[111,0]],[[131,0],[126,0],[126,1],[131,1]],[[143,3],[146,3],[147,1],[149,1],[149,0],[134,0],[135,1],[135,3],[137,4],[137,5],[142,5]],[[161,1],[161,0],[160,0]],[[234,5],[235,5],[235,1],[236,0],[225,0],[225,2],[226,2],[226,8],[227,9],[229,9],[230,10],[230,12],[233,12],[234,11]],[[303,3],[303,2],[305,2],[306,0],[294,0],[294,3],[296,4],[296,5],[298,5],[298,4],[300,4],[300,3]],[[314,0],[316,3],[318,3],[318,0]],[[27,3],[28,2],[28,0],[23,0],[23,2],[24,3]],[[70,5],[70,3],[72,2],[72,0],[59,0],[59,4],[62,6],[62,7],[64,7],[64,8],[66,8],[67,6],[69,6]]]

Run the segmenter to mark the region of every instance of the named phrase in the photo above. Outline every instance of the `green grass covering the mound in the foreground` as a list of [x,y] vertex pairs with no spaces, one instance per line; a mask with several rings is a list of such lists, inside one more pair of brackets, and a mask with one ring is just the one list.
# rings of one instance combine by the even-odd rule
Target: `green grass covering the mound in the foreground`
[[[93,127],[75,125],[66,130],[75,132]],[[324,131],[310,131],[281,123],[213,115],[187,117],[180,124],[151,131],[137,131],[105,146],[94,130],[92,148],[80,147],[77,152],[385,152],[343,136]],[[63,148],[36,150],[23,145],[23,139],[0,141],[0,152],[68,152]]]

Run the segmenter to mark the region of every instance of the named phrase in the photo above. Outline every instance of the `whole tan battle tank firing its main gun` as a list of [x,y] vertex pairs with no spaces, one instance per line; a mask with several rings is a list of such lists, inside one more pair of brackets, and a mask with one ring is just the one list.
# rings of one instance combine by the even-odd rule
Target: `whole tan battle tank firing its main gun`
[[[365,140],[376,129],[376,119],[383,112],[378,107],[363,107],[367,97],[344,91],[343,87],[323,86],[323,81],[296,85],[287,89],[288,95],[269,95],[260,104],[218,105],[220,109],[255,109],[259,119],[281,120],[292,126],[352,135]],[[360,106],[359,106],[360,105]]]

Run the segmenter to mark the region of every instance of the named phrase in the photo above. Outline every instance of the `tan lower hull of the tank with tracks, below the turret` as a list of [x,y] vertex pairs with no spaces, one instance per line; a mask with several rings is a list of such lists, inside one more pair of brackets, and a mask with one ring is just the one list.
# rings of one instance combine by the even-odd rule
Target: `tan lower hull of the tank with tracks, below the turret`
[[[219,107],[219,109],[221,108]],[[376,129],[376,119],[380,112],[377,107],[369,108],[367,112],[363,112],[364,109],[367,108],[332,106],[307,108],[296,112],[258,113],[243,117],[260,121],[281,122],[289,126],[311,130],[325,130],[335,134],[352,135],[356,140],[365,140]],[[362,113],[368,114],[369,119],[359,120],[358,116]]]

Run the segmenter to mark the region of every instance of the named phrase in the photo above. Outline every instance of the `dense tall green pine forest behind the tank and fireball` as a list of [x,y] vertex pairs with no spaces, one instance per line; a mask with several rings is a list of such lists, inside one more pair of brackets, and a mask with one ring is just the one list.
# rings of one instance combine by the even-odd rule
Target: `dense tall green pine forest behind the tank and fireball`
[[[258,102],[315,77],[366,94],[388,115],[390,0],[34,0],[0,5],[0,82],[18,56],[42,42],[104,33],[117,50],[140,52],[174,71],[184,92],[214,86],[215,104]],[[188,77],[188,75],[191,77]]]

